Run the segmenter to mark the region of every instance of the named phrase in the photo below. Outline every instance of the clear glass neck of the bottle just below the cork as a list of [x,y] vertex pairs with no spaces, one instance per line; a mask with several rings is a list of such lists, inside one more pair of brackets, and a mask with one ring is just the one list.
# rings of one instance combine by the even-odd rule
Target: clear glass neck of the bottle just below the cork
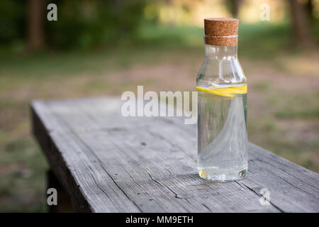
[[208,45],[205,44],[205,57],[216,60],[227,60],[228,58],[237,58],[237,45]]

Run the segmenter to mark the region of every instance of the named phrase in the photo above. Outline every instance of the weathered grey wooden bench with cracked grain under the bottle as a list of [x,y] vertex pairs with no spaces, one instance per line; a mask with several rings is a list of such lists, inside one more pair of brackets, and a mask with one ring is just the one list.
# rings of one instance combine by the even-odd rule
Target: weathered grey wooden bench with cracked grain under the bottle
[[[33,133],[74,211],[319,211],[315,172],[250,143],[245,179],[208,182],[196,171],[196,125],[125,118],[121,104],[118,98],[31,104]],[[264,192],[269,205],[261,203]]]

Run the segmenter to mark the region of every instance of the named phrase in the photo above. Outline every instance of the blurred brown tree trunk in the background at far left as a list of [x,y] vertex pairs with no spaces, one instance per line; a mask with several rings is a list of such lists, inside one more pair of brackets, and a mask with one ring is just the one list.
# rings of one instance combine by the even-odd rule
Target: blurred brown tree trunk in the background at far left
[[44,29],[43,21],[45,20],[45,1],[29,0],[28,1],[28,50],[37,51],[44,47]]

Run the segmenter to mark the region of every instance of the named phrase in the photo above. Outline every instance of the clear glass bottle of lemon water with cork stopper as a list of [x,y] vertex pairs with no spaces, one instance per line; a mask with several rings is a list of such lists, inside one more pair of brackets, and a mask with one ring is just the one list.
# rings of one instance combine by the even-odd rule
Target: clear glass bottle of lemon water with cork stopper
[[196,79],[200,177],[242,179],[247,173],[247,84],[237,59],[238,20],[207,18],[205,59]]

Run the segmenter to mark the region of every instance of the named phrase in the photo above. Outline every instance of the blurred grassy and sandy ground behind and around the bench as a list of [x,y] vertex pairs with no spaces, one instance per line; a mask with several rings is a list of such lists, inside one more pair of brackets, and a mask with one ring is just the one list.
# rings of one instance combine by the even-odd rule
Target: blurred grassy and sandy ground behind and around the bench
[[[202,28],[145,25],[134,43],[100,50],[0,52],[0,211],[45,211],[47,163],[30,134],[30,100],[120,95],[141,84],[194,90],[202,35]],[[284,24],[243,25],[239,35],[250,140],[319,172],[318,77],[279,64],[287,56],[308,61],[307,53],[291,48]]]

